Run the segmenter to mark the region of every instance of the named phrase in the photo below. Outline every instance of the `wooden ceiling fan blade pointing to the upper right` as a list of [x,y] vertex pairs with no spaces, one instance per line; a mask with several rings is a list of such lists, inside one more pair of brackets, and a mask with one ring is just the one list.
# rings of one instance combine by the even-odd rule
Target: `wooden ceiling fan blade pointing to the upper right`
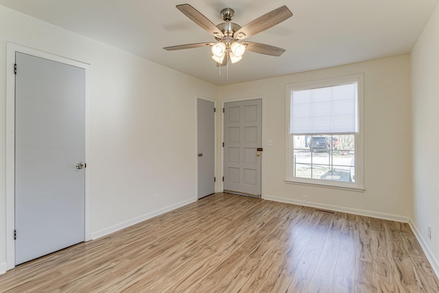
[[270,27],[274,27],[274,25],[285,21],[285,19],[289,19],[291,16],[293,16],[292,12],[289,11],[287,6],[283,5],[244,25],[244,27],[241,27],[233,36],[239,40],[243,40],[244,38],[268,30]]

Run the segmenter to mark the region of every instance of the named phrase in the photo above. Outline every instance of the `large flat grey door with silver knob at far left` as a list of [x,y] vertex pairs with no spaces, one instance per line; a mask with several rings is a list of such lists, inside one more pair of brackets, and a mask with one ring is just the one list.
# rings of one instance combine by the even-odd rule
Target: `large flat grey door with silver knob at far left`
[[18,52],[16,66],[19,264],[84,241],[85,70]]

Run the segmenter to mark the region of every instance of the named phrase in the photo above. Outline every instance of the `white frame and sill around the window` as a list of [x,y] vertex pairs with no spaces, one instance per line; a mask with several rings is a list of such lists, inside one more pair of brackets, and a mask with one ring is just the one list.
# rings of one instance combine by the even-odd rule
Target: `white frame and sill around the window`
[[[292,91],[318,89],[329,86],[340,86],[357,82],[357,117],[358,132],[355,137],[355,182],[338,182],[322,179],[294,177],[294,134],[290,134],[291,126],[291,99]],[[364,191],[364,74],[346,75],[337,78],[313,80],[309,82],[298,82],[285,86],[285,183],[331,187],[337,189],[348,189]],[[305,135],[305,134],[303,134]]]

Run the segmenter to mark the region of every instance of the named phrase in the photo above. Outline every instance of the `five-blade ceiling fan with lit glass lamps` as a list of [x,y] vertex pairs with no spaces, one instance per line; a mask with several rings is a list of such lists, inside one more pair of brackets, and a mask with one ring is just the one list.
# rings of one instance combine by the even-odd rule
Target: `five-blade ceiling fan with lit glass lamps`
[[246,50],[270,56],[281,56],[283,52],[285,52],[285,49],[272,45],[248,42],[246,40],[243,41],[293,16],[292,12],[289,11],[285,5],[263,14],[263,16],[250,21],[250,23],[244,25],[244,27],[241,27],[237,23],[230,22],[235,14],[231,8],[221,10],[222,19],[225,22],[219,23],[219,25],[214,25],[206,16],[189,4],[177,5],[176,8],[189,17],[191,21],[200,25],[200,27],[209,32],[209,34],[212,34],[217,41],[164,47],[163,49],[167,51],[212,47],[212,58],[217,62],[217,65],[226,65],[229,57],[232,63],[238,62],[242,59]]

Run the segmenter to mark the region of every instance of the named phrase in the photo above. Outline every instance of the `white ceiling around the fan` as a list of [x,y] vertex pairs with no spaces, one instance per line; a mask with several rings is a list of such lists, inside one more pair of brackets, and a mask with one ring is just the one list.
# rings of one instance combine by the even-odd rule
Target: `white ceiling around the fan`
[[[439,0],[0,0],[13,10],[118,47],[217,85],[271,78],[408,54]],[[280,57],[246,52],[222,67],[209,47],[163,47],[214,41],[176,9],[189,3],[213,23],[233,8],[241,26],[287,5],[293,16],[246,39],[286,49]]]

